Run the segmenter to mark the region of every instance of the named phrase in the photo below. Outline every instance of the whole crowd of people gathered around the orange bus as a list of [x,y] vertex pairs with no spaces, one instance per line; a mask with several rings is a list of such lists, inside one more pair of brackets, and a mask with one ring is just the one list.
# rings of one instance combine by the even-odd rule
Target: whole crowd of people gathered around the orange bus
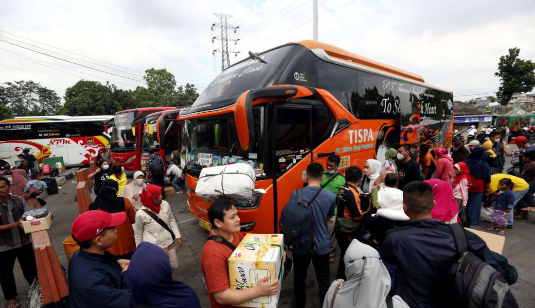
[[[368,159],[362,169],[346,168],[345,175],[338,170],[337,155],[328,157],[325,170],[319,163],[308,165],[302,195],[313,218],[313,248],[304,253],[286,250],[291,255],[285,251],[282,258],[286,266],[293,264],[292,305],[440,306],[444,299],[441,279],[458,257],[448,225],[461,221],[467,227],[477,225],[482,208],[494,204],[493,224],[487,229],[506,235],[514,219],[527,218],[526,207],[535,202],[534,149],[522,136],[515,140],[515,151],[500,142],[499,133],[490,136],[490,147],[472,141],[467,149],[454,141],[451,151],[402,144],[388,149],[384,161]],[[500,173],[503,156],[519,157],[519,176]],[[147,171],[135,172],[129,183],[121,165],[114,163],[110,168],[105,159],[90,174],[95,179],[95,201],[71,228],[80,246],[68,267],[72,306],[200,306],[196,292],[174,276],[182,239],[171,207],[163,200],[162,178],[166,173],[179,174],[173,164],[158,158],[151,153]],[[24,167],[11,172],[16,170],[22,170],[19,178],[26,180]],[[32,182],[21,180],[17,184],[24,187],[21,193],[42,189],[39,176],[33,174]],[[172,182],[181,191],[179,181]],[[0,238],[0,256],[11,262],[2,263],[0,282],[10,308],[18,304],[14,301],[14,260],[19,259],[29,283],[36,275],[35,260],[29,257],[33,253],[28,253],[32,249],[29,238],[19,228],[29,203],[14,190],[14,184],[0,178],[0,231],[6,235]],[[296,199],[294,191],[289,204]],[[513,215],[515,210],[517,215]],[[201,268],[210,306],[232,307],[277,294],[279,281],[270,281],[269,276],[254,287],[231,288],[227,260],[243,238],[240,217],[225,198],[212,203],[208,217],[212,230],[201,252]],[[516,282],[516,270],[505,257],[488,249],[477,235],[467,231],[466,236],[468,251],[498,271],[508,284]],[[337,261],[334,252],[338,248],[336,280],[331,281],[330,263]],[[306,295],[310,263],[319,289],[314,303],[307,303]]]

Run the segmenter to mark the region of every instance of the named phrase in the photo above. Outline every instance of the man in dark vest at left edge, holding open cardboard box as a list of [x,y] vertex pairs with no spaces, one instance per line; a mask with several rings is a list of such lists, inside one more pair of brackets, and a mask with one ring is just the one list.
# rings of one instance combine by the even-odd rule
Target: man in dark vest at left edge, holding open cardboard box
[[0,285],[8,308],[20,307],[15,297],[17,286],[13,276],[15,259],[19,260],[24,278],[29,284],[37,276],[35,255],[29,234],[22,229],[22,213],[29,211],[26,201],[9,194],[11,183],[0,176]]

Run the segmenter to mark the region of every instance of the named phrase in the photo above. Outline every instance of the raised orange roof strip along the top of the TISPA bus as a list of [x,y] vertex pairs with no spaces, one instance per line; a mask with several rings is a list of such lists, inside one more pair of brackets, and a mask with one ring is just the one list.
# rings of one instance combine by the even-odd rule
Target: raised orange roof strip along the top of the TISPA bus
[[402,70],[401,68],[397,68],[388,64],[381,63],[376,60],[372,60],[370,58],[357,55],[356,53],[349,52],[347,50],[341,49],[339,47],[336,47],[330,44],[313,41],[313,40],[297,41],[296,43],[301,44],[310,50],[323,49],[325,50],[327,55],[333,58],[337,58],[339,60],[345,61],[350,64],[362,65],[362,66],[371,68],[373,70],[382,71],[385,73],[397,75],[397,76],[407,78],[410,80],[425,83],[424,78],[421,75],[411,73],[411,72]]

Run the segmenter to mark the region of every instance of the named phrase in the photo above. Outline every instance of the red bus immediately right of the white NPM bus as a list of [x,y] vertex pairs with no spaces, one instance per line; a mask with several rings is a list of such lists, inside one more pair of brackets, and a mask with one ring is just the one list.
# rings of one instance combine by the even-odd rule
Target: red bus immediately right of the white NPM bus
[[151,113],[177,107],[145,107],[119,111],[113,119],[110,157],[125,170],[141,170],[141,137],[144,119]]

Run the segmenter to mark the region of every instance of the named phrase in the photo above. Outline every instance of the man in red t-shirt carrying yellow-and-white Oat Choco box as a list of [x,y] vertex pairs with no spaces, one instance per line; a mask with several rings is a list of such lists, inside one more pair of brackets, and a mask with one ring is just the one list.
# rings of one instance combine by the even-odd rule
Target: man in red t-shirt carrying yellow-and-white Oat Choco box
[[[279,281],[268,282],[269,276],[256,287],[231,289],[228,281],[228,258],[243,238],[238,210],[228,199],[217,199],[208,209],[212,232],[201,252],[201,267],[210,297],[210,307],[227,308],[250,301],[258,296],[275,295]],[[286,254],[283,256],[283,262]]]

